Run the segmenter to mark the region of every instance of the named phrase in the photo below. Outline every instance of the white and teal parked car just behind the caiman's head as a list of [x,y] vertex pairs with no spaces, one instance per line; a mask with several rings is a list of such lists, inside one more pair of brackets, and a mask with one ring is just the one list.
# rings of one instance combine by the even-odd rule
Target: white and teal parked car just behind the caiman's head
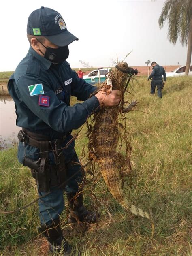
[[98,68],[91,71],[88,75],[84,75],[83,79],[90,84],[95,84],[99,82],[100,73],[100,83],[105,81],[107,73],[111,71],[111,68]]

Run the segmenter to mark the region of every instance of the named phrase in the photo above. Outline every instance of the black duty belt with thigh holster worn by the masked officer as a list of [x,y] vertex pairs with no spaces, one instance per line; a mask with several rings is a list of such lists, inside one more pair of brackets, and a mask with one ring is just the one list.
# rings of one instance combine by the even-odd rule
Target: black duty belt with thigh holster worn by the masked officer
[[[49,141],[45,136],[29,132],[25,129],[19,132],[18,138],[19,141],[40,149],[40,158],[37,161],[26,156],[23,160],[23,165],[31,168],[32,176],[36,180],[39,191],[50,191],[51,187],[59,186],[66,181],[65,157],[62,153],[62,140],[66,136]],[[49,151],[53,151],[54,165],[49,164]]]

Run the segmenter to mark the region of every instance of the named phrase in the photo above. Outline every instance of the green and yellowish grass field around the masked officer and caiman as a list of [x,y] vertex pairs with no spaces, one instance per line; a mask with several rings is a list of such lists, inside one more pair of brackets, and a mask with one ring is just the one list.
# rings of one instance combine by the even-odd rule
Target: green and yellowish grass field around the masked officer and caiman
[[[147,219],[124,211],[103,180],[93,183],[87,174],[85,205],[98,207],[98,224],[85,234],[77,233],[66,224],[66,211],[61,215],[65,237],[81,249],[82,256],[191,255],[192,78],[168,79],[162,99],[149,94],[146,80],[139,78],[131,84],[135,93],[130,90],[139,101],[137,110],[127,114],[133,172],[130,201],[153,215],[154,236]],[[79,155],[87,143],[85,132],[83,127],[76,139]],[[0,152],[0,211],[17,209],[37,197],[30,171],[17,162],[16,153],[15,147]],[[97,201],[94,196],[90,199],[90,193]],[[37,203],[19,213],[0,214],[0,255],[49,255],[37,226]]]

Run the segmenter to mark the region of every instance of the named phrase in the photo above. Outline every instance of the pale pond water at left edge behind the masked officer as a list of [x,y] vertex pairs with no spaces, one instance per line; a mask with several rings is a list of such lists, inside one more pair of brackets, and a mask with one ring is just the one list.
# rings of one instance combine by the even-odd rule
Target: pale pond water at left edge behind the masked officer
[[16,126],[16,118],[11,96],[0,96],[0,149],[18,143],[17,134],[21,128]]

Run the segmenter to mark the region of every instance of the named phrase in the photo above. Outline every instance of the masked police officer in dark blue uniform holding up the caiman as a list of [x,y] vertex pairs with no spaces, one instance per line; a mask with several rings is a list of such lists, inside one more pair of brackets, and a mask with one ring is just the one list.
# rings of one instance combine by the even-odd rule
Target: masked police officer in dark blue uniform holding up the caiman
[[[93,223],[97,215],[83,205],[82,168],[74,149],[73,129],[78,129],[100,105],[119,104],[119,92],[106,95],[78,78],[66,59],[68,45],[78,40],[57,11],[41,7],[33,11],[27,24],[28,54],[10,77],[8,90],[17,114],[18,160],[31,168],[38,185],[40,232],[49,241],[51,252],[70,255],[72,248],[62,235],[60,214],[66,190],[71,213],[68,222]],[[70,106],[70,96],[83,101]],[[65,188],[59,187],[68,181]]]

